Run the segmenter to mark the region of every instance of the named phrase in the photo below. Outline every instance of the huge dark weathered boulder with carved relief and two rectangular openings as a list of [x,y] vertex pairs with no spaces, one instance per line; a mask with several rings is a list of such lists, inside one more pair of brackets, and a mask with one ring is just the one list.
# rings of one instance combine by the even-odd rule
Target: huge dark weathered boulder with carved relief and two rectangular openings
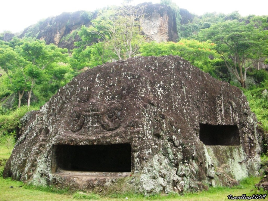
[[[23,125],[4,177],[35,185],[196,191],[235,185],[260,168],[256,118],[242,91],[180,57],[138,57],[87,70]],[[101,148],[92,151],[101,145],[108,158]],[[109,164],[91,171],[98,160],[117,171],[107,170]]]

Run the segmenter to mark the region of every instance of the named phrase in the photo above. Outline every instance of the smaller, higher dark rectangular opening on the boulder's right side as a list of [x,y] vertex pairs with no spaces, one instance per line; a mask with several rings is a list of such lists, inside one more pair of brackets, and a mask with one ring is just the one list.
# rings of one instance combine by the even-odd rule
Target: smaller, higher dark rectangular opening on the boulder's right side
[[240,145],[237,125],[200,124],[199,139],[205,145]]

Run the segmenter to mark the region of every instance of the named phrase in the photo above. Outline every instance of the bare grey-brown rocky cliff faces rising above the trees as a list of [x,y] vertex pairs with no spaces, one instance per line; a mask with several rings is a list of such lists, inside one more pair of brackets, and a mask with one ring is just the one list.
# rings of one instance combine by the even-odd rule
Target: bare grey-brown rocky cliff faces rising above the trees
[[[139,5],[140,6],[140,5]],[[141,28],[148,39],[160,41],[174,41],[178,39],[176,14],[169,6],[143,3],[145,17],[140,19]],[[58,47],[73,49],[73,43],[79,41],[77,30],[82,26],[89,26],[90,20],[96,13],[77,11],[62,13],[56,17],[49,17],[35,25],[26,28],[20,37],[31,36],[45,40],[47,44],[54,43]],[[181,9],[181,23],[188,23],[192,15]]]

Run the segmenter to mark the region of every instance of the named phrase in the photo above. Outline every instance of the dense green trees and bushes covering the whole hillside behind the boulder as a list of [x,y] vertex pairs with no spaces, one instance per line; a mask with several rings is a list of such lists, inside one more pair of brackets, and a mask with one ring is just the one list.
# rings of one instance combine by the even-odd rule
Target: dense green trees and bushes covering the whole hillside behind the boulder
[[[176,4],[161,3],[172,7],[179,22]],[[146,42],[142,35],[138,21],[142,15],[142,7],[128,4],[102,9],[91,26],[77,30],[81,41],[69,54],[67,49],[26,36],[4,42],[0,34],[2,144],[14,143],[19,119],[42,106],[78,73],[139,55],[179,55],[211,76],[240,87],[260,126],[268,131],[268,73],[262,69],[268,64],[268,16],[241,17],[236,11],[194,16],[188,24],[177,23],[178,42],[156,43]]]

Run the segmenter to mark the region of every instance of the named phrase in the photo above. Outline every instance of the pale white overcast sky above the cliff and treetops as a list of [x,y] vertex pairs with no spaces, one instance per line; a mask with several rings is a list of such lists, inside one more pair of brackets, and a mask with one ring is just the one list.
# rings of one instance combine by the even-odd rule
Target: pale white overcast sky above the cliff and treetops
[[[107,5],[121,5],[123,0],[1,0],[0,3],[0,32],[20,32],[41,19],[59,15],[62,12],[79,10],[94,11]],[[134,0],[134,4],[146,0]],[[159,3],[160,0],[147,2]],[[198,15],[206,12],[231,13],[238,11],[242,16],[249,14],[268,15],[267,0],[251,0],[247,3],[241,0],[173,0],[180,8]]]

